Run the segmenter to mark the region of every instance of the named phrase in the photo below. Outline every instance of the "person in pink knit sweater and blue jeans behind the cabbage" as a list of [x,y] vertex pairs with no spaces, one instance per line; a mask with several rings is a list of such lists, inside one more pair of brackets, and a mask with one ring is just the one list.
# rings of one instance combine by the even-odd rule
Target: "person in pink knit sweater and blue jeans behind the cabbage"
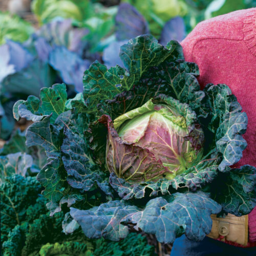
[[[181,45],[185,60],[195,62],[199,66],[198,81],[201,89],[207,83],[227,84],[248,116],[247,131],[243,136],[248,145],[243,151],[242,159],[231,167],[244,164],[256,167],[256,8],[234,11],[205,20],[188,34]],[[241,230],[248,230],[248,241],[243,244],[238,243],[243,235],[239,231],[225,237],[219,236],[217,230],[218,240],[224,240],[226,243],[209,237],[201,242],[190,241],[183,235],[174,242],[170,255],[256,255],[256,208],[248,218],[243,218],[247,219],[248,222],[244,221],[243,225],[248,227],[245,226]],[[217,221],[220,222],[221,219]],[[231,221],[228,225],[234,223]],[[245,237],[247,238],[247,233]]]

